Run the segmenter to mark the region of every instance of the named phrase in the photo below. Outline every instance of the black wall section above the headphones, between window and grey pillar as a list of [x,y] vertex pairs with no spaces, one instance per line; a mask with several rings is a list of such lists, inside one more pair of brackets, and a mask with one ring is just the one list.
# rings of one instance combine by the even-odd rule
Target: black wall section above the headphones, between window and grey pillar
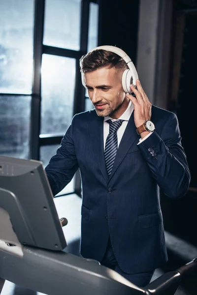
[[136,64],[139,0],[100,0],[99,4],[99,46],[117,46]]

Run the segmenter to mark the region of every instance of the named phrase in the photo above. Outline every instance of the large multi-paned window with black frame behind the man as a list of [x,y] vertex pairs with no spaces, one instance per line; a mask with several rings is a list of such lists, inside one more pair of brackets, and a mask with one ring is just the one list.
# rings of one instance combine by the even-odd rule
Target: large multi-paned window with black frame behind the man
[[[98,14],[91,0],[0,1],[1,155],[45,167],[73,115],[93,108],[79,59],[98,45]],[[77,172],[58,195],[80,188]]]

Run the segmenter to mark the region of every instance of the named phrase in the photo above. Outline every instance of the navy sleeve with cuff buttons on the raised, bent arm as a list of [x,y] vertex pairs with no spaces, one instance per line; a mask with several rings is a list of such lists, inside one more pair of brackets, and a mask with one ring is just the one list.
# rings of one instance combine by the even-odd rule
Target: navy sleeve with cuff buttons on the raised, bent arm
[[167,196],[176,199],[186,194],[191,176],[175,114],[168,115],[160,136],[155,130],[138,148]]

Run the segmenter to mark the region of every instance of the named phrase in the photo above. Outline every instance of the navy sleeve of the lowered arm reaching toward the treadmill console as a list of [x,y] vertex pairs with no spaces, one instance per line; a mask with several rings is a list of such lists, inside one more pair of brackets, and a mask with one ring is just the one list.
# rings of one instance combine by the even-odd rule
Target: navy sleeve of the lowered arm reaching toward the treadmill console
[[57,195],[72,179],[78,169],[75,147],[72,140],[73,123],[68,127],[58,148],[45,168],[53,195]]

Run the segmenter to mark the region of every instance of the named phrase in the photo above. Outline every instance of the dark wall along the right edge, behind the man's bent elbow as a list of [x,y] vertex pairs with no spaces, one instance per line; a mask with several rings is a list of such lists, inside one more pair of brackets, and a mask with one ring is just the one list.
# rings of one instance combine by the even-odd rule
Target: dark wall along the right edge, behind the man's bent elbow
[[177,0],[173,23],[169,110],[178,117],[191,183],[183,198],[173,201],[162,195],[161,202],[165,230],[197,245],[197,1]]

